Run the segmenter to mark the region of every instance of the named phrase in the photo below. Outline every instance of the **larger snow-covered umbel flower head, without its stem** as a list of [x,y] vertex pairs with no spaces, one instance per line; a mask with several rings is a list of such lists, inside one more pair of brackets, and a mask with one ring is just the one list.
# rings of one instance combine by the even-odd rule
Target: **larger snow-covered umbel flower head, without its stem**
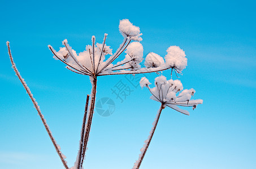
[[[142,41],[140,28],[134,26],[128,19],[123,19],[120,21],[119,31],[123,35],[124,41],[114,54],[112,54],[110,46],[106,45],[107,34],[103,38],[103,43],[96,43],[96,38],[93,36],[92,45],[87,45],[85,51],[79,54],[68,45],[67,39],[62,42],[64,47],[60,47],[58,52],[50,45],[48,47],[53,52],[54,58],[66,64],[67,69],[91,77],[151,73],[167,69],[181,73],[186,67],[185,52],[180,47],[170,46],[164,57],[166,62],[163,57],[150,52],[145,59],[145,68],[142,68],[140,63],[143,60],[143,46],[140,43]],[[114,60],[124,51],[126,53],[124,59],[114,64]]]

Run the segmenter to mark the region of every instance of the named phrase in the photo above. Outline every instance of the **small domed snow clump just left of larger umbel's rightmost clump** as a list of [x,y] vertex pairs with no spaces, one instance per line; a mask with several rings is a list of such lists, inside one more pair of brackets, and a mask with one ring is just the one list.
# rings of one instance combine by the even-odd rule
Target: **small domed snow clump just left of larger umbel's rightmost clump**
[[145,66],[147,68],[157,68],[164,64],[163,57],[159,56],[158,54],[155,54],[154,52],[150,52],[147,54],[145,59]]

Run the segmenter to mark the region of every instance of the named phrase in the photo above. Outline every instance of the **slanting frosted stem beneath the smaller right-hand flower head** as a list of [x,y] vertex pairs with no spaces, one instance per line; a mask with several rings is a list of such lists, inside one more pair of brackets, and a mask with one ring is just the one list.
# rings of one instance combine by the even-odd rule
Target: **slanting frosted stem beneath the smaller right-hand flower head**
[[155,121],[153,123],[153,127],[151,128],[149,137],[145,141],[144,147],[141,150],[141,154],[139,155],[138,160],[136,161],[136,163],[134,163],[133,169],[140,168],[141,162],[142,162],[142,160],[143,160],[143,158],[144,158],[144,156],[146,154],[147,149],[149,148],[150,141],[152,140],[152,137],[154,135],[155,128],[157,128],[157,123],[159,121],[160,114],[161,114],[163,109],[164,109],[164,104],[162,103],[161,106],[160,106],[160,109],[158,110],[157,117],[155,118]]

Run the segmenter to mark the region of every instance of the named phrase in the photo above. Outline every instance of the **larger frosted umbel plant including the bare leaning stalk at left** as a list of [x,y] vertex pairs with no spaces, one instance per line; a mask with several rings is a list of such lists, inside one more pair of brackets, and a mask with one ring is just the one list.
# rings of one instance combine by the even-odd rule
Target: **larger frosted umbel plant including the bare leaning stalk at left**
[[[96,43],[96,38],[93,36],[92,45],[87,45],[85,51],[80,52],[79,54],[77,54],[77,52],[73,50],[70,45],[68,45],[67,39],[65,39],[62,42],[64,47],[61,47],[58,52],[55,51],[54,48],[50,45],[48,46],[51,52],[53,52],[55,59],[58,59],[62,61],[64,64],[66,64],[66,68],[71,70],[72,72],[82,75],[88,75],[90,78],[90,82],[92,83],[92,92],[90,94],[88,114],[86,108],[86,113],[84,115],[83,125],[81,129],[79,152],[77,154],[75,166],[73,166],[72,168],[83,168],[83,161],[85,157],[86,147],[88,144],[90,126],[92,124],[92,118],[94,113],[97,77],[115,74],[141,74],[161,72],[167,69],[172,69],[175,71],[175,73],[181,73],[181,71],[186,66],[186,58],[184,51],[181,50],[179,47],[171,46],[167,50],[166,57],[164,57],[164,59],[166,60],[165,62],[163,57],[151,52],[149,55],[147,55],[145,59],[145,67],[142,68],[140,64],[143,60],[143,46],[140,43],[140,41],[142,41],[142,33],[140,32],[140,28],[134,26],[132,23],[130,23],[128,19],[123,19],[120,21],[119,31],[123,35],[124,40],[114,54],[112,54],[112,49],[110,48],[110,46],[106,45],[107,34],[104,35],[103,43]],[[10,46],[8,46],[8,50],[10,54]],[[114,64],[114,61],[118,59],[118,57],[123,52],[125,52],[124,59]],[[16,68],[14,62],[12,61],[11,54],[10,58],[12,65],[14,66],[14,68]],[[19,73],[16,72],[16,74],[19,77]],[[21,83],[23,83],[25,89],[28,91],[29,89],[25,85],[24,80],[21,77],[19,77],[19,79]],[[29,96],[35,104],[32,94],[29,94]],[[87,99],[89,99],[89,97],[87,97]],[[41,112],[39,111],[39,106],[37,110],[38,114],[40,114]],[[44,118],[41,117],[41,119],[44,122]],[[44,124],[47,127],[47,124],[45,122]],[[51,137],[51,140],[53,141],[51,132],[48,130],[47,132]],[[53,141],[53,143],[54,146],[56,145],[55,148],[57,149],[57,152],[60,155],[60,158],[62,159],[65,168],[68,168],[66,161],[63,160],[63,156],[61,155],[57,144],[55,144],[55,141]]]

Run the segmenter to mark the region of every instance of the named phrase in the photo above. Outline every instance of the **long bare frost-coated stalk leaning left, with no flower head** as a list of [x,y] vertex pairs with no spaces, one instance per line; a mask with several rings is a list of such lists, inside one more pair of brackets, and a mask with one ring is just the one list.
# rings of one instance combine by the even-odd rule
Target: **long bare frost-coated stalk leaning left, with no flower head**
[[51,139],[51,142],[53,143],[54,148],[55,148],[55,150],[57,151],[57,153],[58,153],[58,155],[59,155],[59,157],[60,157],[60,160],[61,160],[62,163],[63,163],[63,166],[64,166],[66,169],[68,169],[67,162],[64,160],[64,158],[66,158],[65,155],[62,154],[62,152],[60,151],[60,146],[57,144],[56,140],[54,139],[53,134],[51,134],[50,128],[49,128],[48,124],[46,123],[46,120],[45,120],[45,118],[44,118],[44,115],[42,115],[42,113],[41,113],[41,110],[40,110],[40,108],[39,108],[39,106],[38,106],[38,104],[37,104],[37,102],[36,102],[36,99],[34,99],[34,97],[33,97],[32,93],[31,93],[30,89],[28,88],[26,82],[25,82],[24,79],[21,77],[21,75],[20,75],[18,69],[16,68],[16,65],[15,65],[14,60],[13,60],[12,55],[11,55],[10,42],[7,41],[6,44],[7,44],[7,47],[8,47],[8,54],[9,54],[9,56],[10,56],[12,68],[14,69],[14,72],[15,72],[16,75],[18,76],[20,82],[22,83],[22,85],[23,85],[23,87],[25,88],[25,90],[27,91],[27,93],[28,93],[30,99],[32,100],[32,103],[33,103],[34,107],[36,108],[36,110],[37,110],[37,112],[38,112],[38,115],[39,115],[40,118],[41,118],[42,123],[43,123],[44,126],[45,126],[45,129],[46,129],[46,131],[47,131],[47,134],[49,135],[49,137],[50,137],[50,139]]

